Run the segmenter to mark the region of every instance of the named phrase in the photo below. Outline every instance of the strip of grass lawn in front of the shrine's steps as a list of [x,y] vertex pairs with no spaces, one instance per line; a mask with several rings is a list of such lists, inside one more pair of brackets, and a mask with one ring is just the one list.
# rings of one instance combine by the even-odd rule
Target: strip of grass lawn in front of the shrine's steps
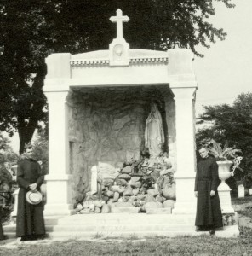
[[[0,247],[0,255],[252,255],[252,230],[241,228],[238,238],[215,236],[152,237],[137,240],[101,239],[94,241],[53,241],[49,243],[13,242],[12,247]],[[3,243],[3,241],[2,241]]]

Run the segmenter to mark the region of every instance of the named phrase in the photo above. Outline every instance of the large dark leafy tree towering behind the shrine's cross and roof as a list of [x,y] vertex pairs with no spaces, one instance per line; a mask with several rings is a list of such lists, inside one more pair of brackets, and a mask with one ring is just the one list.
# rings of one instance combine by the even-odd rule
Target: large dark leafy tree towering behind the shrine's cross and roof
[[[231,0],[217,0],[233,7]],[[115,38],[109,18],[116,9],[129,15],[124,38],[131,48],[209,47],[226,33],[209,23],[214,0],[1,0],[0,130],[19,132],[20,153],[46,119],[43,108],[44,58],[107,49]]]

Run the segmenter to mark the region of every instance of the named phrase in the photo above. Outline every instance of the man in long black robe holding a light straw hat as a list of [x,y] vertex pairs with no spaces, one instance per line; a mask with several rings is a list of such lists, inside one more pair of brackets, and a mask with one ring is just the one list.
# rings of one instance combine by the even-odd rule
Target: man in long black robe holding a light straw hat
[[42,195],[43,173],[37,161],[31,158],[31,145],[26,146],[18,163],[17,183],[20,186],[16,236],[21,241],[42,239],[45,235]]

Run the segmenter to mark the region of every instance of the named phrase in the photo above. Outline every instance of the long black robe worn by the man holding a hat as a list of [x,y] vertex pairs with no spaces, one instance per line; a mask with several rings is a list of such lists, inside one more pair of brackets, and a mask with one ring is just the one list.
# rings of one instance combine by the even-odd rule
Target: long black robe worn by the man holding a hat
[[17,170],[17,183],[20,186],[16,236],[42,236],[45,234],[43,204],[31,205],[26,201],[29,185],[37,183],[37,190],[43,183],[43,173],[35,160],[20,160]]

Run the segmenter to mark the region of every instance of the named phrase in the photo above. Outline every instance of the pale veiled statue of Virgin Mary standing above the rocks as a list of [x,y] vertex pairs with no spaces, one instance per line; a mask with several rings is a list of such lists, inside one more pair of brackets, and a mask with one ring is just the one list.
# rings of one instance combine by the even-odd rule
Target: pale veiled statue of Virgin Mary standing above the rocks
[[158,106],[152,103],[151,113],[146,119],[146,148],[149,148],[151,158],[156,158],[163,152],[163,121]]

